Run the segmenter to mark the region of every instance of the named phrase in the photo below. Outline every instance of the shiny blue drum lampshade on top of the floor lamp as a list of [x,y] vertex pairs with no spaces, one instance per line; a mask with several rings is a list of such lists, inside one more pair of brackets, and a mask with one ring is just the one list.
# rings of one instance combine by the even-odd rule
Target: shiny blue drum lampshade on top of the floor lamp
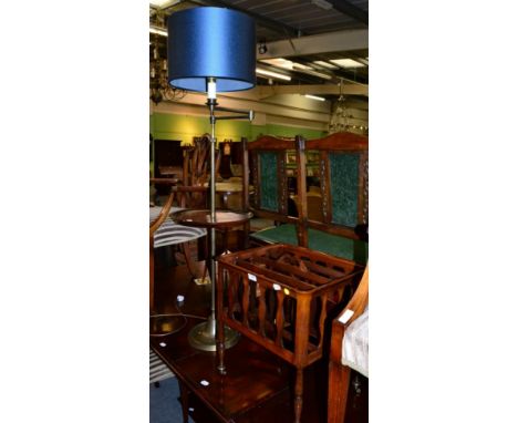
[[256,85],[256,23],[249,16],[222,8],[193,8],[167,20],[169,84],[205,92],[216,78],[217,91]]

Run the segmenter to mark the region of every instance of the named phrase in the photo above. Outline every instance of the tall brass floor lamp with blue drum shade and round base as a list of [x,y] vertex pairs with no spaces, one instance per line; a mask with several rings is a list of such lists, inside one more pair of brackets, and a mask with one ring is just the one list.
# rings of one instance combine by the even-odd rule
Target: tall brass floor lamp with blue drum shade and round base
[[[167,61],[169,84],[207,93],[210,112],[210,218],[216,220],[215,126],[217,120],[253,118],[253,112],[218,107],[217,92],[244,91],[256,85],[256,23],[249,16],[231,9],[199,7],[173,13],[167,19]],[[215,116],[215,111],[238,113]],[[193,347],[216,351],[216,234],[210,228],[211,312],[207,322],[189,332]],[[225,347],[238,334],[225,330]]]

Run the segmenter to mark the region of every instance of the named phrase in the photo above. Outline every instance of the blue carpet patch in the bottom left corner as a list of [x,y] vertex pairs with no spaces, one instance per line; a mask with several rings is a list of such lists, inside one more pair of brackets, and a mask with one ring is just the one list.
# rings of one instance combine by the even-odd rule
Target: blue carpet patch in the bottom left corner
[[[176,378],[159,382],[159,386],[149,384],[149,423],[182,423],[182,404]],[[189,423],[194,421],[189,417]]]

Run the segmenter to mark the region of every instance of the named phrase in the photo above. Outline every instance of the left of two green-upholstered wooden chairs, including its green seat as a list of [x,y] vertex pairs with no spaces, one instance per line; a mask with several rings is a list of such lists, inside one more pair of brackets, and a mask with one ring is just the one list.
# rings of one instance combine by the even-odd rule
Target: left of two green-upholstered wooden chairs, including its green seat
[[[253,213],[250,240],[256,245],[284,243],[299,245],[302,226],[298,216],[289,215],[288,152],[296,152],[296,172],[300,172],[304,157],[296,140],[260,136],[253,142],[244,141],[244,205]],[[250,180],[251,179],[251,180]],[[305,190],[305,178],[297,178],[297,189]],[[251,184],[249,184],[251,183]],[[253,186],[253,194],[249,193]],[[297,202],[297,208],[301,205]],[[267,220],[265,227],[253,230],[256,219]]]

